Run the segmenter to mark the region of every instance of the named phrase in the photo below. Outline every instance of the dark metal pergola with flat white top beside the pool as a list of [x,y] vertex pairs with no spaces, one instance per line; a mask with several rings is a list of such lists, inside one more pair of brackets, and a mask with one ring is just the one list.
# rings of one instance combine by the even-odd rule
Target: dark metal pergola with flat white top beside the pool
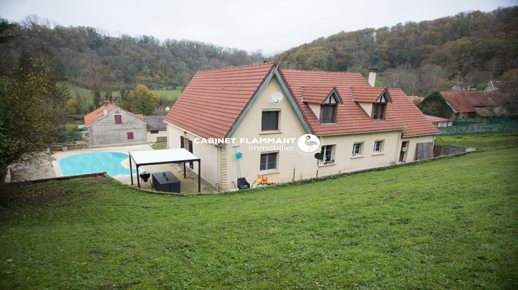
[[201,192],[201,160],[193,153],[187,151],[185,148],[177,149],[162,149],[162,150],[149,150],[149,151],[133,151],[129,153],[130,161],[130,175],[131,185],[133,185],[133,173],[131,160],[135,163],[137,168],[137,186],[140,187],[139,178],[139,167],[144,165],[157,165],[157,164],[169,164],[169,163],[183,163],[184,164],[184,178],[185,163],[186,162],[198,162],[198,192]]

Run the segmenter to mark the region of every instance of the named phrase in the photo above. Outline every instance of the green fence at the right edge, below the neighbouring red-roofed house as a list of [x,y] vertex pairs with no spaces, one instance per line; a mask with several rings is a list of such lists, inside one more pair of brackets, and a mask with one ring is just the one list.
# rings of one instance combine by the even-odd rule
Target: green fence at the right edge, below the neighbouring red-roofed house
[[466,119],[454,121],[453,126],[438,129],[441,131],[439,135],[518,133],[518,120],[488,118],[486,122],[476,122]]

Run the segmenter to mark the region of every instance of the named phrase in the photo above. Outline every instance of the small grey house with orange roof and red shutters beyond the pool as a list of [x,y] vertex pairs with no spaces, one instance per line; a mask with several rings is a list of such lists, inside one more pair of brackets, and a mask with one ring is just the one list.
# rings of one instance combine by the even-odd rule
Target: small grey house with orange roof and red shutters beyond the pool
[[84,116],[84,123],[91,146],[146,142],[144,116],[129,113],[115,102],[105,101],[104,106]]

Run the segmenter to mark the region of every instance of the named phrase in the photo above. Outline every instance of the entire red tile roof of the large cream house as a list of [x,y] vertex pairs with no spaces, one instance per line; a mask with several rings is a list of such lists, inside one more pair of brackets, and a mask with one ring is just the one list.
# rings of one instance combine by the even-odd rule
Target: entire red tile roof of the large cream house
[[[165,122],[201,137],[228,137],[244,109],[276,67],[274,62],[197,72],[169,111]],[[360,99],[372,102],[385,88],[372,88],[359,73],[278,71],[315,135],[404,130],[403,135],[408,136],[439,132],[401,90],[387,90],[392,103],[387,104],[385,121],[373,121],[356,103],[356,97],[353,101],[351,87],[356,88]],[[337,107],[336,124],[320,124],[307,101],[321,103],[332,90],[336,90],[342,101]]]

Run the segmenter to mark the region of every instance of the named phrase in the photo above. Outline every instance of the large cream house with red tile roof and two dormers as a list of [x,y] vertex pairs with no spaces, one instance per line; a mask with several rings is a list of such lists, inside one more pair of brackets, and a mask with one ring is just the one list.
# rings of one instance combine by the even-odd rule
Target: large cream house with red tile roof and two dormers
[[200,157],[222,190],[238,176],[285,182],[432,157],[439,133],[400,89],[276,62],[197,72],[164,122],[168,148]]

